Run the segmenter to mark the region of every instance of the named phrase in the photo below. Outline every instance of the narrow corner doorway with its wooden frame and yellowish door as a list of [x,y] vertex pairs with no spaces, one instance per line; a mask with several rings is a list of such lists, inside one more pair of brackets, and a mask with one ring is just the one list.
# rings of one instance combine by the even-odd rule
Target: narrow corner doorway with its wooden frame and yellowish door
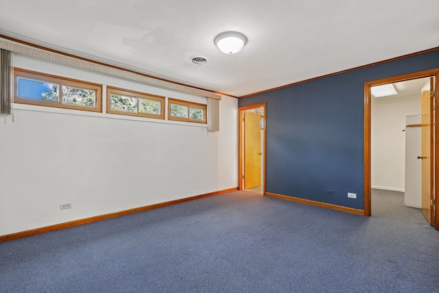
[[265,194],[265,103],[239,108],[238,188]]

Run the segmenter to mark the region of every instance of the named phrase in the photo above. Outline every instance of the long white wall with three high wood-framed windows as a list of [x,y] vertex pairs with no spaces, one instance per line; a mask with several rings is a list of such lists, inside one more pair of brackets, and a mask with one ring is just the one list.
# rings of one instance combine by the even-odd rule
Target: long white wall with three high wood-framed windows
[[[14,66],[206,102],[18,54]],[[237,104],[222,97],[219,132],[16,104],[14,122],[0,117],[0,235],[237,187]]]

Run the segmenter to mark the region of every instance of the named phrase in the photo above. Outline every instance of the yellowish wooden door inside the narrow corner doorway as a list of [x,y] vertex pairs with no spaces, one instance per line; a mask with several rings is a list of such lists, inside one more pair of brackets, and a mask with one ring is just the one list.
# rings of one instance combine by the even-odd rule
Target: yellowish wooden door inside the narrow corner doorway
[[261,186],[261,115],[244,112],[244,189]]

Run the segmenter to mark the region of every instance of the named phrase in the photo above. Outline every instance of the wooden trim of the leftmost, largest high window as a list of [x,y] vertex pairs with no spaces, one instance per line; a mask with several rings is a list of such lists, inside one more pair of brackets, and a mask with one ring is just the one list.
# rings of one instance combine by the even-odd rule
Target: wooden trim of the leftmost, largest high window
[[[26,80],[35,80],[38,82],[50,82],[58,84],[59,101],[45,101],[43,99],[32,99],[27,97],[19,97],[19,78]],[[65,108],[71,110],[84,110],[90,112],[102,112],[102,84],[95,84],[93,82],[84,82],[83,80],[74,80],[72,78],[64,78],[57,75],[31,71],[27,69],[14,68],[14,103],[30,104],[36,106],[46,106],[54,108]],[[95,91],[95,106],[87,107],[80,105],[64,104],[62,103],[62,86],[75,87],[77,89],[84,89],[88,91]]]

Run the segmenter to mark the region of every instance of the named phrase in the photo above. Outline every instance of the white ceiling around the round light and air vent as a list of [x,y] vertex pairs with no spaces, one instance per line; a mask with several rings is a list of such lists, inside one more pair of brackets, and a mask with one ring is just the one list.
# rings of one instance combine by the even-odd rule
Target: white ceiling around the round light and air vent
[[[0,0],[0,34],[242,96],[439,47],[438,11],[438,0]],[[226,31],[247,36],[238,54],[215,47]]]

